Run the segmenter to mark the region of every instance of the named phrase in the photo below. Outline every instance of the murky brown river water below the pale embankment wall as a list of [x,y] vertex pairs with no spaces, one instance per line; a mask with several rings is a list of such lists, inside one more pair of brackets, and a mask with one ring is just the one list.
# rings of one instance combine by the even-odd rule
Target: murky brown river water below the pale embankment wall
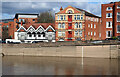
[[3,75],[118,75],[118,59],[3,57]]

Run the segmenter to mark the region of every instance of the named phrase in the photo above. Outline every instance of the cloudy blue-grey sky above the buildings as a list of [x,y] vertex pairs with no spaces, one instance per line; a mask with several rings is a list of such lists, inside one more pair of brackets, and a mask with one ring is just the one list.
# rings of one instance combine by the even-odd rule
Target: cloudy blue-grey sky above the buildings
[[56,13],[62,6],[68,5],[84,9],[97,16],[101,16],[101,4],[118,0],[4,0],[0,2],[0,19],[12,19],[16,13],[41,13],[48,10]]

